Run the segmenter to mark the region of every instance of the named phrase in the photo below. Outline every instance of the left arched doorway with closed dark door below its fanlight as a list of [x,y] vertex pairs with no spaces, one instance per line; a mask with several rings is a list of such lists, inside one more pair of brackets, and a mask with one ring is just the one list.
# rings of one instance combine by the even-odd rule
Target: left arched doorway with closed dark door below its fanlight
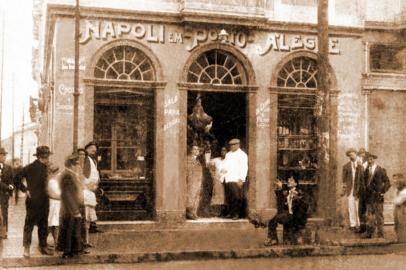
[[94,65],[94,130],[104,220],[151,219],[154,212],[156,67],[131,43],[110,46]]

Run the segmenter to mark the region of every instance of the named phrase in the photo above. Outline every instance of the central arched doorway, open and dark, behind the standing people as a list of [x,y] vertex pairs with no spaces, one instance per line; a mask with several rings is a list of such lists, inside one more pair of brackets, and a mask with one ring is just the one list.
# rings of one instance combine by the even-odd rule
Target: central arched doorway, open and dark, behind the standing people
[[[189,59],[182,81],[180,86],[181,90],[185,90],[183,99],[187,115],[185,148],[197,143],[207,161],[208,152],[210,158],[218,157],[222,146],[227,146],[230,139],[238,138],[242,150],[249,154],[248,93],[249,83],[255,78],[245,56],[232,46],[210,44]],[[200,105],[202,115],[211,119],[210,127],[206,131],[195,132],[191,117]],[[246,191],[247,188],[248,184]],[[213,178],[205,170],[203,198],[198,211],[201,217],[220,215],[219,208],[211,204],[212,190]],[[246,209],[245,203],[241,216],[245,215]]]

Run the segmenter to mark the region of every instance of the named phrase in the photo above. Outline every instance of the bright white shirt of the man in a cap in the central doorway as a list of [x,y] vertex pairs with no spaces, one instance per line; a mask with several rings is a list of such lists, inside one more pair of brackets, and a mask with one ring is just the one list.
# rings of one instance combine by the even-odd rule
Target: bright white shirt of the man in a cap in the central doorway
[[248,173],[248,156],[240,148],[232,152],[228,152],[225,158],[225,182],[245,182]]

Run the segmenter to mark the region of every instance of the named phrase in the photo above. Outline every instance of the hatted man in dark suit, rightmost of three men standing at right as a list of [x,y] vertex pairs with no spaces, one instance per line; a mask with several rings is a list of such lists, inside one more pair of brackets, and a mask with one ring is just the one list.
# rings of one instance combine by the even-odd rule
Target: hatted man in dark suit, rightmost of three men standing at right
[[366,231],[361,237],[372,238],[376,229],[377,236],[383,238],[383,202],[384,194],[390,188],[390,182],[386,170],[375,163],[378,157],[368,153],[367,158],[368,167],[360,187],[365,198],[367,222]]

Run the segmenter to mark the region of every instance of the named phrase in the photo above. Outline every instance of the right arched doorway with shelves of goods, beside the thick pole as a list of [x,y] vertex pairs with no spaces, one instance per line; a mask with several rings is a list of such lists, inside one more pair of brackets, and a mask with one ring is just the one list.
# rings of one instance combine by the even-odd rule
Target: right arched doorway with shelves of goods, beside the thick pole
[[317,62],[309,56],[285,61],[277,70],[277,177],[299,180],[310,214],[317,209]]

